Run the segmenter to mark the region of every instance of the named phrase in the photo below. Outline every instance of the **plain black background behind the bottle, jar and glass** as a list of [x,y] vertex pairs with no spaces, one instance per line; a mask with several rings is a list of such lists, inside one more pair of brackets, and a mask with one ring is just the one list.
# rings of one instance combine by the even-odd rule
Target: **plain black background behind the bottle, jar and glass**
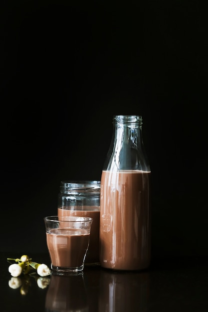
[[46,251],[43,217],[57,212],[60,181],[99,180],[113,115],[135,114],[152,170],[153,256],[207,256],[205,7],[0,7],[0,250]]

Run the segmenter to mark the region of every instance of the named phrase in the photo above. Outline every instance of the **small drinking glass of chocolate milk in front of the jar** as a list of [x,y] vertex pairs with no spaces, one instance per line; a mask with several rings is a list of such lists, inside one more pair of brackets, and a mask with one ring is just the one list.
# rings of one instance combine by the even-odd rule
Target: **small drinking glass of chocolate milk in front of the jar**
[[84,268],[93,219],[77,216],[44,217],[51,269],[57,274]]

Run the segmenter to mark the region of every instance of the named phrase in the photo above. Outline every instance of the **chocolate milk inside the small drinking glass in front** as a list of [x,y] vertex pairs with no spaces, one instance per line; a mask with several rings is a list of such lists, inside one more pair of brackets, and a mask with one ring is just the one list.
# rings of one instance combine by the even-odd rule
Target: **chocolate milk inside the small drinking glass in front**
[[[78,232],[78,234],[77,234]],[[46,232],[47,247],[54,267],[81,267],[89,244],[84,229],[51,229]]]

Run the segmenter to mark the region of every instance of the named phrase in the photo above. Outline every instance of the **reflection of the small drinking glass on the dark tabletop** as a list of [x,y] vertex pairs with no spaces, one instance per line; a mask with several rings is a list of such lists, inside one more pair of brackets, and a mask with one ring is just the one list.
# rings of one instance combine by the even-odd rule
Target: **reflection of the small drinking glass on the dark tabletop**
[[88,312],[82,273],[52,274],[45,299],[46,312]]

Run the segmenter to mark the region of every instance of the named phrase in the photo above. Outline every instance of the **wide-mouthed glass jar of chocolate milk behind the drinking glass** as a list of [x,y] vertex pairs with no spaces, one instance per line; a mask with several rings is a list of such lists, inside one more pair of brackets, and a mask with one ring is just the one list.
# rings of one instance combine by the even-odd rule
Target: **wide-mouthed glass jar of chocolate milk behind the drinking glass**
[[99,263],[100,181],[61,181],[58,216],[93,218],[85,263]]

